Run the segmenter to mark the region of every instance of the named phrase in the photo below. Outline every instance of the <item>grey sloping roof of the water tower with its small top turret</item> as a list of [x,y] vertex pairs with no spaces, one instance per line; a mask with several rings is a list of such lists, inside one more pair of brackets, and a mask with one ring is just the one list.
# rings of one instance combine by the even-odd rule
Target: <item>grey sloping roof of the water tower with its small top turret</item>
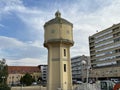
[[61,18],[61,13],[60,13],[59,11],[57,11],[57,12],[55,13],[55,18],[54,18],[54,19],[51,19],[50,21],[48,21],[48,22],[46,22],[46,23],[44,24],[44,27],[45,27],[46,25],[51,25],[51,24],[68,24],[68,25],[73,26],[72,23],[70,23],[69,21]]

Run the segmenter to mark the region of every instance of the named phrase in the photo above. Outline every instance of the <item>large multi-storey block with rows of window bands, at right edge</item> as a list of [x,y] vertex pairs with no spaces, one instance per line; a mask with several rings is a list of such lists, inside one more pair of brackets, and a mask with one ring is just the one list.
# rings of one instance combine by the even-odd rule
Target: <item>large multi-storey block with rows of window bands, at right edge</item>
[[120,77],[120,23],[89,37],[91,77]]

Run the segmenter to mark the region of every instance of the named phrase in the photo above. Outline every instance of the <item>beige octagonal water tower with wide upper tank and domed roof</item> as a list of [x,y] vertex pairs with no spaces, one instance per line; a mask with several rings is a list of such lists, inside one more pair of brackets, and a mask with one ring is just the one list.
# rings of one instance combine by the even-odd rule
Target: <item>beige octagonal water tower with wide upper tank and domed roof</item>
[[61,18],[57,11],[55,18],[44,25],[44,46],[48,49],[47,90],[72,90],[70,47],[73,46],[73,24]]

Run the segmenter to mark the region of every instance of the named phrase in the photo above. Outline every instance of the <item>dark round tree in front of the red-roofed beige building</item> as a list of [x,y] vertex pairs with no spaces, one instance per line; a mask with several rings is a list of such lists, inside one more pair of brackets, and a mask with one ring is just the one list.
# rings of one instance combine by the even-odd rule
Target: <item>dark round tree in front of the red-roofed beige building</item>
[[31,85],[32,82],[34,82],[34,78],[29,73],[26,73],[23,77],[20,79],[21,84],[25,84],[27,86]]

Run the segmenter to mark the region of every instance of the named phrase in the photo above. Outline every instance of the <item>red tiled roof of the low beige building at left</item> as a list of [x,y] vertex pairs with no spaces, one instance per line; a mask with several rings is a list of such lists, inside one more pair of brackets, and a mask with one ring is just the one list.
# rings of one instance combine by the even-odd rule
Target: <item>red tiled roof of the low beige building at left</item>
[[25,74],[40,72],[37,66],[8,66],[8,74]]

